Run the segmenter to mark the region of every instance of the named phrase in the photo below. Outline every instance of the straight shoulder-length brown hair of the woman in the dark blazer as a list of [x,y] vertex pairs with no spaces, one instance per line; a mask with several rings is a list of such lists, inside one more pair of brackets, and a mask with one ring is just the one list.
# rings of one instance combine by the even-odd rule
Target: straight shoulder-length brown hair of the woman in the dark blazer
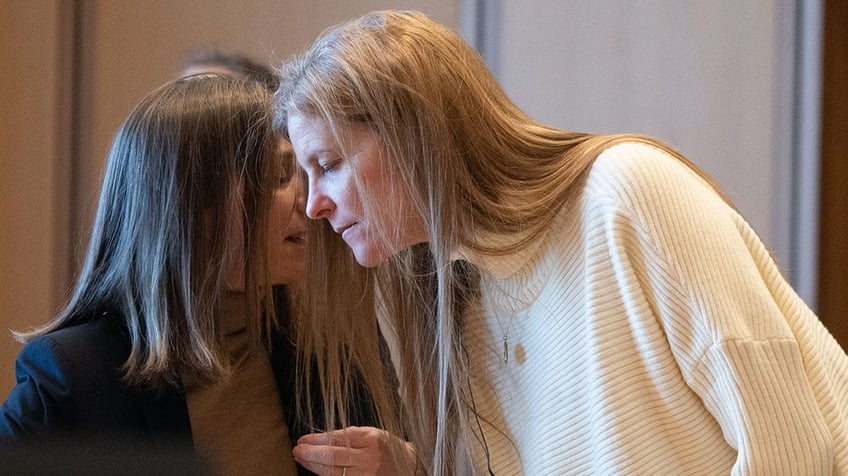
[[[86,260],[64,309],[26,341],[104,314],[125,321],[130,385],[212,382],[229,372],[217,325],[225,263],[241,235],[248,331],[273,325],[268,216],[291,175],[256,81],[206,75],[151,92],[112,142]],[[238,227],[233,229],[234,227]],[[242,240],[239,240],[242,241]]]

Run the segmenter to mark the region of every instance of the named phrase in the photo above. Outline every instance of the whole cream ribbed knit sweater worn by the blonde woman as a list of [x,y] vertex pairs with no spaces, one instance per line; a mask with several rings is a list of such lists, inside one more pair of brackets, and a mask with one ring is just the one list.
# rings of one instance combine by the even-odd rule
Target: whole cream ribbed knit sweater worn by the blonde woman
[[697,175],[620,144],[552,220],[466,256],[495,276],[464,329],[495,474],[848,474],[848,357]]

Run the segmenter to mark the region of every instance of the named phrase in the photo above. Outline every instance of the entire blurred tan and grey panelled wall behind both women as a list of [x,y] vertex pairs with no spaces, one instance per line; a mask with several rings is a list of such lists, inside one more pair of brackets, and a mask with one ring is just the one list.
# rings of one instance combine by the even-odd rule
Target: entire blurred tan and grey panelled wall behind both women
[[848,347],[844,0],[0,0],[0,400],[21,348],[9,330],[67,298],[134,104],[199,49],[279,66],[381,8],[459,31],[547,123],[676,147]]

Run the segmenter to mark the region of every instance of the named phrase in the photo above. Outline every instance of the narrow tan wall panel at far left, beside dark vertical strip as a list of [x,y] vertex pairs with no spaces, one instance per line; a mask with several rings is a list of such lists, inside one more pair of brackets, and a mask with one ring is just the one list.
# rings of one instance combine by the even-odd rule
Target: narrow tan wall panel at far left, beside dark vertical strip
[[4,3],[0,15],[0,398],[20,350],[8,329],[49,317],[63,277],[54,256],[66,183],[57,176],[61,1]]

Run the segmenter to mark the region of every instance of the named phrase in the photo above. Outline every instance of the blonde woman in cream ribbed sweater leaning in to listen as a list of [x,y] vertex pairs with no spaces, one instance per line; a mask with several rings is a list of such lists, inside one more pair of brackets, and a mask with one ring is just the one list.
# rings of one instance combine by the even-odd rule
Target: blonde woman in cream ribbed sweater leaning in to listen
[[[528,117],[415,12],[330,29],[282,75],[317,220],[300,345],[329,349],[331,401],[351,365],[390,387],[379,319],[401,418],[376,405],[420,470],[848,472],[848,357],[680,154]],[[342,436],[295,455],[359,474]]]

